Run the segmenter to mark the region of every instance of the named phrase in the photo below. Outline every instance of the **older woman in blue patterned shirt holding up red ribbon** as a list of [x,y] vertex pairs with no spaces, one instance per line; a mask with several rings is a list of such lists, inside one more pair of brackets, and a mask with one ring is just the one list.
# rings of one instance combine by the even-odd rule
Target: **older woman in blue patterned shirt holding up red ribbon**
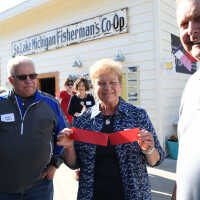
[[[90,77],[99,104],[84,112],[73,126],[115,134],[139,128],[138,141],[107,146],[71,140],[72,131],[58,138],[71,168],[80,167],[78,200],[150,200],[151,188],[146,165],[159,165],[164,152],[153,125],[142,108],[121,97],[121,65],[110,59],[95,63]],[[117,134],[117,133],[116,133]],[[132,133],[134,134],[134,133]],[[74,146],[73,146],[74,143]]]

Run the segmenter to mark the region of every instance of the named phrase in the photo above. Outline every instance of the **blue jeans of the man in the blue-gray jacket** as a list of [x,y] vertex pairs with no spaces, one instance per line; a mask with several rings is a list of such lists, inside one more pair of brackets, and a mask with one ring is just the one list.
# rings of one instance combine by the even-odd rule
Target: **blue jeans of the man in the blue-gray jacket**
[[24,193],[0,193],[0,200],[53,200],[53,181],[39,180]]

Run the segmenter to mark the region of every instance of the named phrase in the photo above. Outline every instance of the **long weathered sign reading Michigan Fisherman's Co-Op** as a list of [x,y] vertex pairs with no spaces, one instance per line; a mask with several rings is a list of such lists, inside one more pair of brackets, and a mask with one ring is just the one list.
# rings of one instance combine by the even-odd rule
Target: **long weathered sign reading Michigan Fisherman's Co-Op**
[[11,44],[12,56],[30,55],[128,32],[128,8],[39,33]]

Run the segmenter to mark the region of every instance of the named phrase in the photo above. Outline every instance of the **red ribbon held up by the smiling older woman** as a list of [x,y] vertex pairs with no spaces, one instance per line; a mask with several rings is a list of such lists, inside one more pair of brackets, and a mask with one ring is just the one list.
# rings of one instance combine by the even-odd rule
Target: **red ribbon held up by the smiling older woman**
[[101,146],[107,146],[108,139],[110,139],[111,145],[135,142],[138,140],[138,133],[140,132],[139,128],[118,131],[111,134],[78,129],[78,128],[71,128],[71,129],[73,130],[73,134],[70,135],[70,137],[73,140],[90,143],[90,144],[101,145]]

